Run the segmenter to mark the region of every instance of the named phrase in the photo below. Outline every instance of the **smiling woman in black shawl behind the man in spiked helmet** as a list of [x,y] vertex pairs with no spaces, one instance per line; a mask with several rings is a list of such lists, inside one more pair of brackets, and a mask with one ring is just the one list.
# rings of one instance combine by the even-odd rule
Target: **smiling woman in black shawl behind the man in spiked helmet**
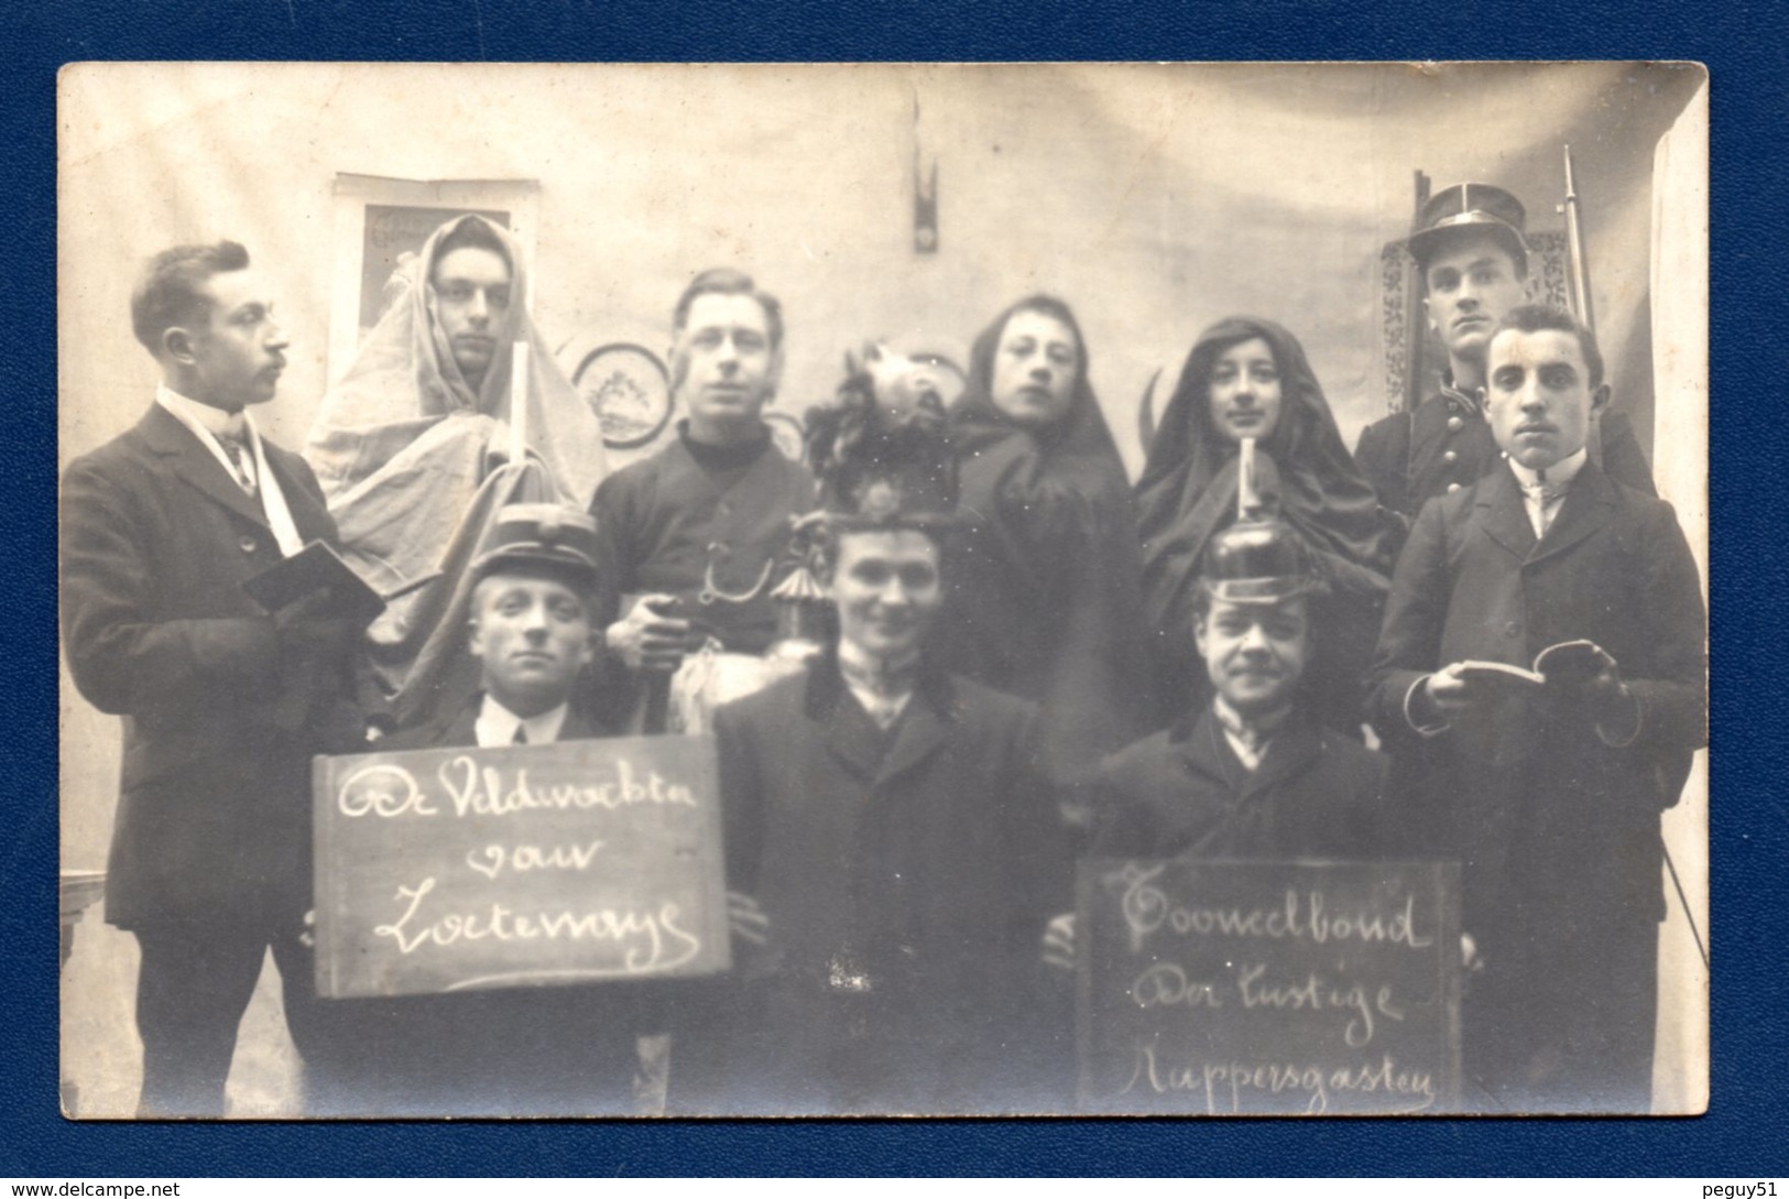
[[1327,582],[1306,675],[1315,714],[1358,734],[1358,680],[1379,632],[1390,555],[1372,487],[1342,444],[1304,347],[1258,317],[1229,317],[1199,335],[1136,485],[1157,723],[1209,698],[1193,644],[1193,582],[1211,535],[1236,519],[1242,437],[1256,438],[1263,514],[1299,530]]

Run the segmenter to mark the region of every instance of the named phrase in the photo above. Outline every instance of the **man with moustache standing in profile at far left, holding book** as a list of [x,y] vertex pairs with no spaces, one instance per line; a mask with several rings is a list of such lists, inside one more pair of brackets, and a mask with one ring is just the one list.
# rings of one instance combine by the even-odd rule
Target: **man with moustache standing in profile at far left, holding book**
[[311,1045],[309,759],[361,744],[360,626],[326,592],[276,616],[243,582],[335,523],[304,460],[263,438],[286,336],[234,242],[150,259],[131,295],[161,367],[131,431],[63,476],[68,668],[125,718],[106,918],[141,948],[141,1115],[222,1115],[268,947]]

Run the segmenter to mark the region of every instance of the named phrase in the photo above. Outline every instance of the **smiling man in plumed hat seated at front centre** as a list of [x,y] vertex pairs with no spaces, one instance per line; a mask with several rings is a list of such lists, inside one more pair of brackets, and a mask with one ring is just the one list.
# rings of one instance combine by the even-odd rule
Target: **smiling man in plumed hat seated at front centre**
[[1066,855],[1036,709],[925,651],[955,490],[937,460],[841,472],[818,569],[837,642],[716,716],[728,886],[769,941],[735,966],[726,1110],[1048,1102],[1025,1090],[1029,972]]

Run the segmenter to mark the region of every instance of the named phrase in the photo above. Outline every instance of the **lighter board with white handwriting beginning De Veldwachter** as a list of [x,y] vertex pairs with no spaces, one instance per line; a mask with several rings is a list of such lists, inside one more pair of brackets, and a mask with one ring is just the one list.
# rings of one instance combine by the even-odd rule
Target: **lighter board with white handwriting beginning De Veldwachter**
[[320,757],[324,997],[728,968],[712,737]]

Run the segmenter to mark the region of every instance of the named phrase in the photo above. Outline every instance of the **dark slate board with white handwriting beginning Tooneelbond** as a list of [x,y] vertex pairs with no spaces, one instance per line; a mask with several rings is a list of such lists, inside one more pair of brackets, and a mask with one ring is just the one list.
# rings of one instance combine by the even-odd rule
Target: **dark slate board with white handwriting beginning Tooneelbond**
[[1453,863],[1082,863],[1084,1108],[1456,1110],[1458,897]]

